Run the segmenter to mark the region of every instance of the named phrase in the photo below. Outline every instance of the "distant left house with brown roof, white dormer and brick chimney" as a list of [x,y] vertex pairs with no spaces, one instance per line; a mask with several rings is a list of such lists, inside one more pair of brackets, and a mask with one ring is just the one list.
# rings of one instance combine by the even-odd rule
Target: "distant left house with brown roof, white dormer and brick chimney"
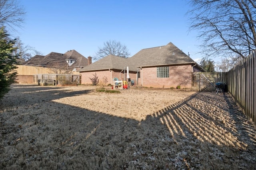
[[92,57],[84,57],[75,50],[69,50],[66,53],[51,52],[46,56],[35,55],[24,65],[28,66],[42,66],[42,67],[58,67],[58,68],[72,68],[73,71],[78,71],[81,68],[92,63]]

